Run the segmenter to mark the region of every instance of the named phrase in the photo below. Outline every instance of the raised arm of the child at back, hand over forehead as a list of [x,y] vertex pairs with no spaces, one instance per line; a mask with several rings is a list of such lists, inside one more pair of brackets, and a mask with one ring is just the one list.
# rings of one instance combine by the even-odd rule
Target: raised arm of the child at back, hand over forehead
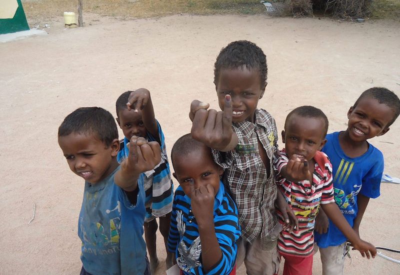
[[126,106],[129,110],[141,110],[144,127],[146,127],[147,131],[157,140],[158,143],[160,143],[157,120],[155,120],[153,104],[148,89],[139,88],[132,91],[129,94]]

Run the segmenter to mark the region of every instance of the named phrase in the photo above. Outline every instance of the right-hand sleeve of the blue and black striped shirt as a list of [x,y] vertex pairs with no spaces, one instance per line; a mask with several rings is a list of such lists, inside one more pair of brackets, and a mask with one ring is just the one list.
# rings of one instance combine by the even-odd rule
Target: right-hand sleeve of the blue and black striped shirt
[[[226,196],[222,201],[221,207],[215,213],[215,236],[221,248],[222,257],[206,274],[229,274],[235,265],[237,253],[236,241],[240,237],[237,208],[233,200]],[[195,268],[190,269],[190,273],[197,274]],[[204,271],[202,273],[205,274]]]

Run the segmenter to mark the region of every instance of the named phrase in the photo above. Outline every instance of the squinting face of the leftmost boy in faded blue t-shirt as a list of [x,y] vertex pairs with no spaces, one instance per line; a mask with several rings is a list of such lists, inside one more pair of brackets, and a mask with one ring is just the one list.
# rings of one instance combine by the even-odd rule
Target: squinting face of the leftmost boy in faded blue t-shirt
[[71,171],[90,183],[97,183],[116,168],[113,160],[119,149],[117,138],[106,146],[95,134],[73,132],[59,136],[58,144]]

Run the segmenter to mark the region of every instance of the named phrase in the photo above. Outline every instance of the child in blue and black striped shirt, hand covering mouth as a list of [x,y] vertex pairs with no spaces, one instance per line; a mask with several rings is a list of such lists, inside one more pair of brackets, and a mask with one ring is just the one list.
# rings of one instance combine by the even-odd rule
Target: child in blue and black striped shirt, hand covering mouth
[[178,180],[168,249],[181,274],[235,274],[237,209],[220,181],[222,168],[210,149],[185,134],[171,151]]

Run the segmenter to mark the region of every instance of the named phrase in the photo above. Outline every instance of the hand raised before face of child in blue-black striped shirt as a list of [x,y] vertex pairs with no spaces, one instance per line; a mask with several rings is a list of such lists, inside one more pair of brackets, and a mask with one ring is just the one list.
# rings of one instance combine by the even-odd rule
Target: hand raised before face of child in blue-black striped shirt
[[214,220],[214,188],[207,184],[194,188],[194,182],[190,180],[190,203],[191,211],[196,218],[198,225],[212,224]]

